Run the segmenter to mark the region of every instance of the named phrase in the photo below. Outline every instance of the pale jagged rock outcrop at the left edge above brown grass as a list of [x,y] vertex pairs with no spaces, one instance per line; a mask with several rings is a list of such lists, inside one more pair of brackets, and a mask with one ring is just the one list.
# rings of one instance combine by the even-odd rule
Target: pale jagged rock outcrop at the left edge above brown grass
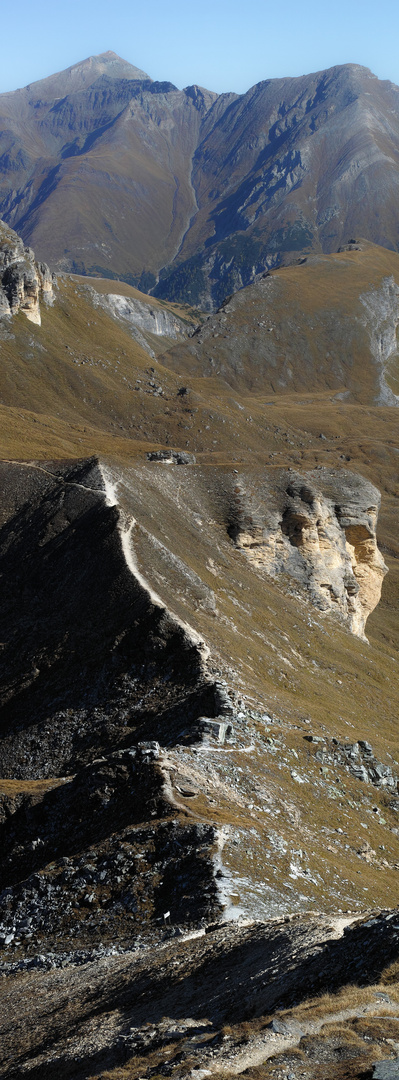
[[45,262],[0,220],[0,318],[23,311],[31,323],[41,324],[40,300],[54,300],[54,278]]

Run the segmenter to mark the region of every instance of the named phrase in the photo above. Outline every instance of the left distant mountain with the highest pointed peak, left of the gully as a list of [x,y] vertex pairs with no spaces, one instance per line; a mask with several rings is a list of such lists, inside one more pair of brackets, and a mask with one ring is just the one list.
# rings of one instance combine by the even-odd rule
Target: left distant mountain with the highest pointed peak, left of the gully
[[114,54],[2,95],[0,213],[57,269],[155,283],[195,210],[208,92]]

